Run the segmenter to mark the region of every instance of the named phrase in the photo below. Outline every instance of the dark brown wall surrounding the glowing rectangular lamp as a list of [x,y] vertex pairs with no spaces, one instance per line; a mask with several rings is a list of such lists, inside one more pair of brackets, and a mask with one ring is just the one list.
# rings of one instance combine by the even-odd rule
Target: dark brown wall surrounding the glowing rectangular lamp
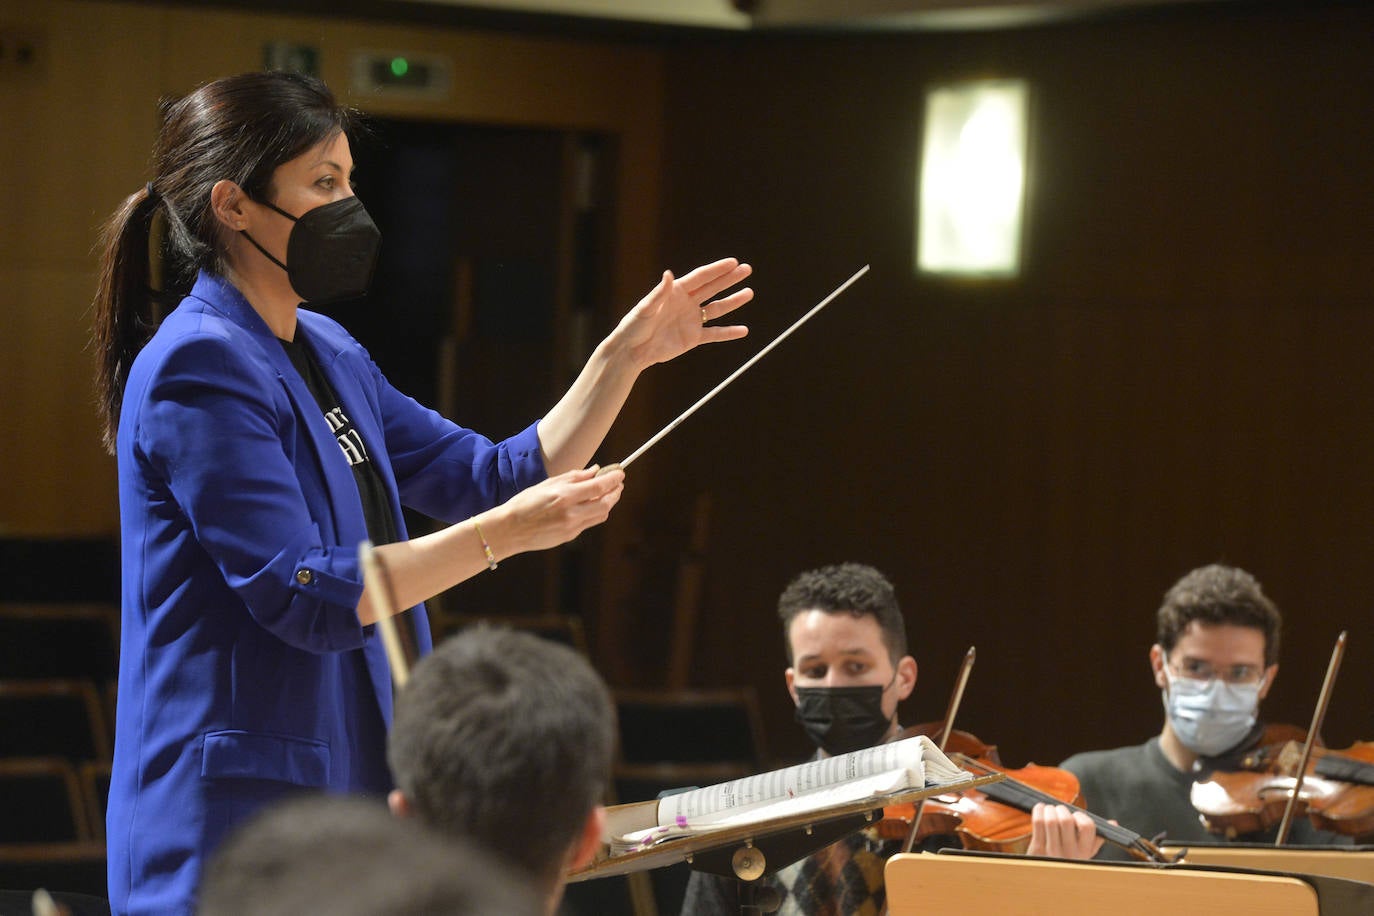
[[[1216,4],[1043,27],[690,41],[669,51],[668,264],[756,266],[749,341],[662,369],[671,417],[863,264],[871,273],[642,459],[651,522],[712,500],[697,680],[753,683],[801,753],[775,600],[888,571],[943,714],[1009,762],[1161,721],[1153,612],[1209,562],[1286,612],[1271,718],[1370,733],[1374,10]],[[1025,77],[1020,280],[914,275],[923,89]],[[633,474],[632,474],[633,478]],[[633,483],[633,479],[632,479]],[[636,608],[639,676],[662,611]],[[657,621],[657,622],[655,622]]]

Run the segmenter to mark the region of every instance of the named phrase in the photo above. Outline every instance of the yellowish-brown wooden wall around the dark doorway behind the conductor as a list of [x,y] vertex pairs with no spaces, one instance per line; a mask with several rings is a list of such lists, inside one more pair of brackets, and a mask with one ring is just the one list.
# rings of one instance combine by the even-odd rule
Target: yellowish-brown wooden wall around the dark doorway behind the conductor
[[[185,4],[187,7],[194,4]],[[609,135],[617,150],[611,297],[599,334],[657,279],[662,65],[625,43],[523,38],[416,25],[176,5],[54,0],[0,16],[47,36],[32,78],[0,80],[0,382],[7,428],[0,531],[113,531],[113,461],[98,442],[87,352],[98,227],[147,179],[157,104],[262,66],[268,41],[312,44],[322,76],[368,113]],[[359,98],[354,48],[448,55],[449,99]],[[646,435],[632,402],[617,434]],[[609,530],[609,537],[632,537]]]

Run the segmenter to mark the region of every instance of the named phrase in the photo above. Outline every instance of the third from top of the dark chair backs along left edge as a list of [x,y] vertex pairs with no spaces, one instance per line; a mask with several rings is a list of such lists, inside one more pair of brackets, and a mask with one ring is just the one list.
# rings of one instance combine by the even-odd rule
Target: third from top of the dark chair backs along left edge
[[0,755],[110,759],[110,731],[95,684],[0,681]]

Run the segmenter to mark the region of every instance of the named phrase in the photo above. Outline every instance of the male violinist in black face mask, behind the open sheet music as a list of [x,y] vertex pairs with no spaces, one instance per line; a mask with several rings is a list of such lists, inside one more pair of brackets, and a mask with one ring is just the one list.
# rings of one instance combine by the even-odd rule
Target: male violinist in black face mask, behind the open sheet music
[[[916,661],[882,573],[861,563],[802,573],[778,599],[778,615],[789,662],[783,678],[818,758],[901,736],[897,705],[916,685]],[[1085,814],[1063,808],[1041,806],[1033,824],[1033,854],[1087,858],[1102,845]],[[761,880],[780,897],[782,916],[878,913],[886,902],[883,867],[900,849],[901,842],[857,832]],[[738,913],[738,883],[692,872],[682,912]]]

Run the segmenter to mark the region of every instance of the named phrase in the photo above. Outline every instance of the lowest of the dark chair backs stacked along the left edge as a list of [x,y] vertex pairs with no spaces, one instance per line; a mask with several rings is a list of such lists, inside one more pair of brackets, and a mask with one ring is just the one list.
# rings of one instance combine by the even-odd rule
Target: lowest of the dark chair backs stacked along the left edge
[[59,757],[0,758],[0,845],[92,839],[76,768]]

